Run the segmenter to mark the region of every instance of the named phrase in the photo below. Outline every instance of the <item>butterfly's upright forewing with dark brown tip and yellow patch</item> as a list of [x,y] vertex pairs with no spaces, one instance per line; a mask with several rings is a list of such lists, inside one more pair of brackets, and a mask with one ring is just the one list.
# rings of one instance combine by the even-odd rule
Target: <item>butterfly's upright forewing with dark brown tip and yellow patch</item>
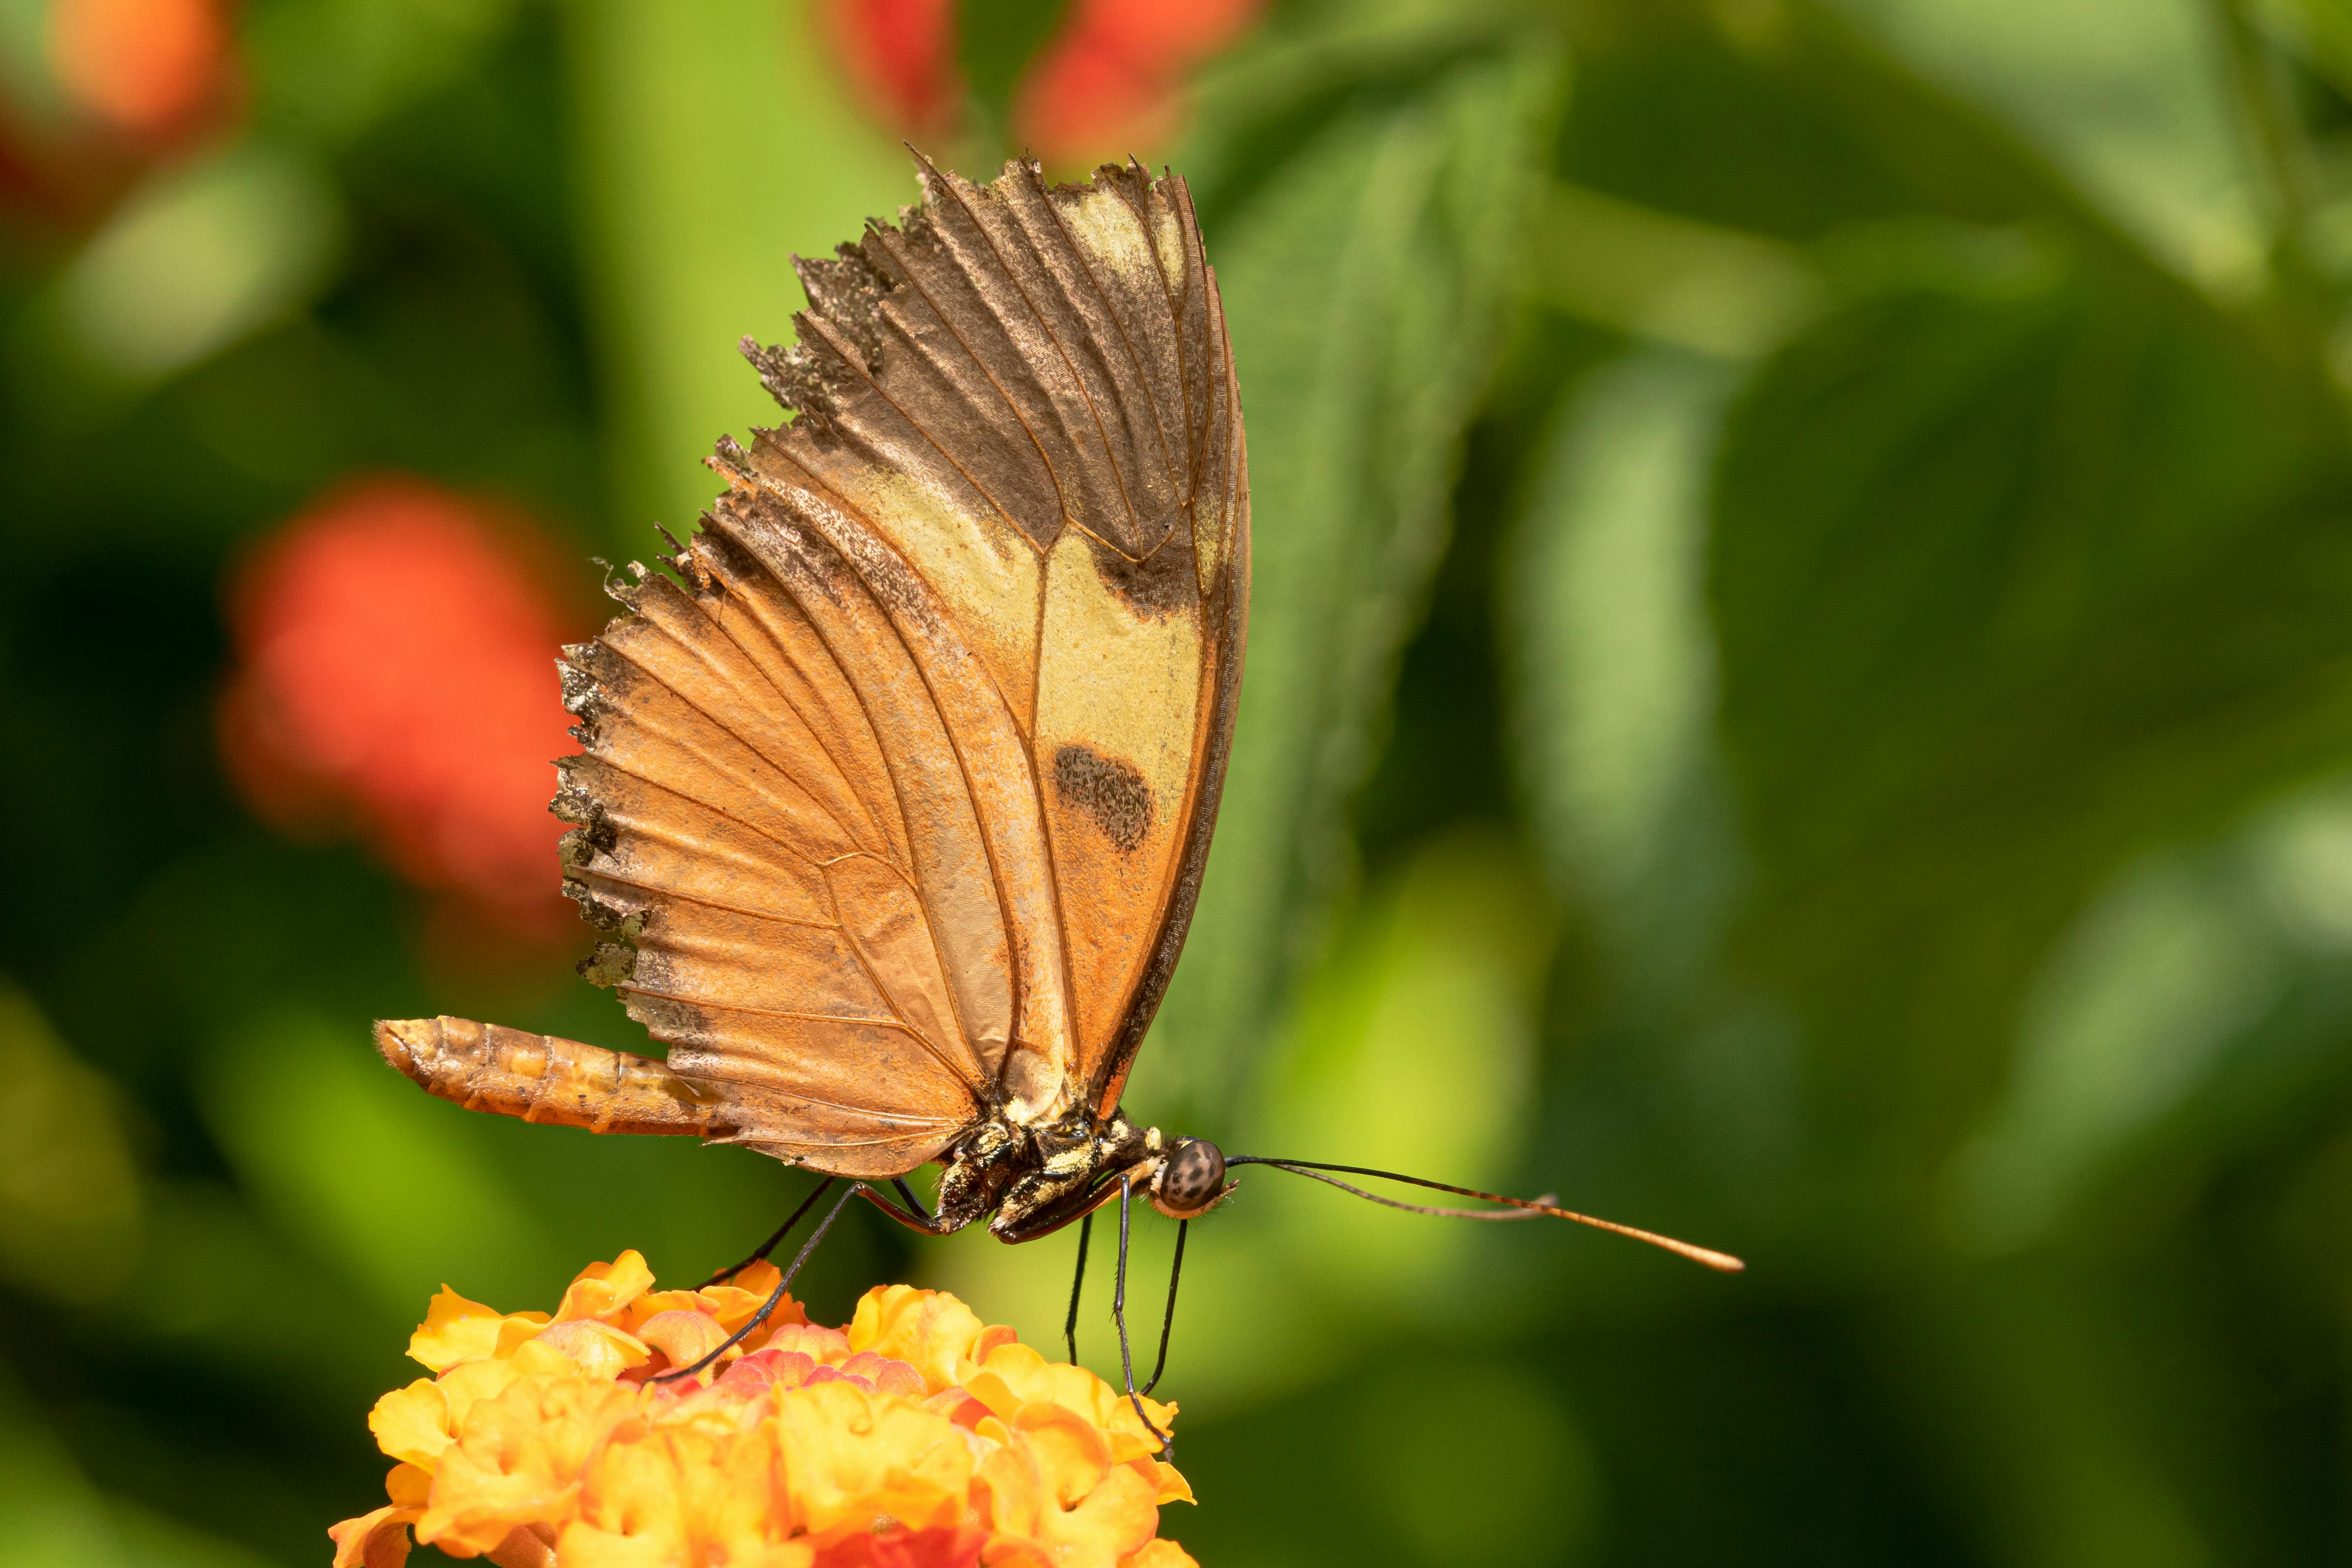
[[1178,179],[922,176],[901,228],[802,263],[800,346],[755,355],[802,416],[734,473],[856,517],[962,630],[1047,830],[1063,1095],[1110,1112],[1192,919],[1240,696],[1225,317]]

